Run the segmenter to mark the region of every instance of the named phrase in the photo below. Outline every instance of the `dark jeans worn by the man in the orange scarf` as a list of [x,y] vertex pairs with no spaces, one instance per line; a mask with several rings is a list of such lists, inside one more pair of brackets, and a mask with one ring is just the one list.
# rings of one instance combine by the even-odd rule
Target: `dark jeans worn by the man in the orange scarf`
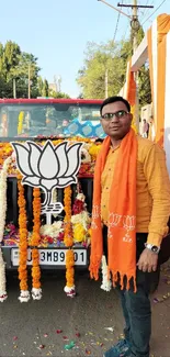
[[[106,227],[103,230],[104,254],[107,256]],[[136,234],[136,261],[145,248],[147,239],[146,233]],[[149,357],[149,341],[151,335],[151,308],[149,293],[154,292],[159,283],[160,267],[157,271],[144,272],[137,269],[136,281],[137,292],[131,290],[121,290],[122,309],[125,319],[125,338],[131,344],[134,357]]]

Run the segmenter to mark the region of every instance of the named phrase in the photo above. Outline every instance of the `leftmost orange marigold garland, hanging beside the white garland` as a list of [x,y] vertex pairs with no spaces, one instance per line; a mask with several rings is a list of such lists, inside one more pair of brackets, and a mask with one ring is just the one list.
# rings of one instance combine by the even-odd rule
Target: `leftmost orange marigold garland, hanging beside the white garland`
[[26,201],[24,198],[24,188],[21,183],[21,176],[18,176],[18,189],[19,189],[19,233],[20,233],[20,244],[19,244],[19,279],[21,294],[19,300],[21,302],[26,302],[30,300],[30,292],[27,286],[27,227],[26,227]]

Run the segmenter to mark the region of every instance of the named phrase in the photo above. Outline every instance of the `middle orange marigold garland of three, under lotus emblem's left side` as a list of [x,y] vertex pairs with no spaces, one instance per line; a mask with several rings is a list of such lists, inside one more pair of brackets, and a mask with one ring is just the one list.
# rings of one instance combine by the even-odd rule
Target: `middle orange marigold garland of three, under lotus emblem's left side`
[[31,238],[32,248],[32,298],[39,300],[42,298],[41,289],[41,267],[39,267],[39,253],[38,245],[41,242],[41,190],[38,188],[33,189],[33,235]]

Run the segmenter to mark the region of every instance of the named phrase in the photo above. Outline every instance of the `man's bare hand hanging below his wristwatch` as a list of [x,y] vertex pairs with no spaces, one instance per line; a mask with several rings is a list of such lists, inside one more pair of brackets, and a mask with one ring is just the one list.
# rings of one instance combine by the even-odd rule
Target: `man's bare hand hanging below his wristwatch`
[[156,271],[158,265],[158,254],[145,248],[138,259],[137,266],[143,271]]

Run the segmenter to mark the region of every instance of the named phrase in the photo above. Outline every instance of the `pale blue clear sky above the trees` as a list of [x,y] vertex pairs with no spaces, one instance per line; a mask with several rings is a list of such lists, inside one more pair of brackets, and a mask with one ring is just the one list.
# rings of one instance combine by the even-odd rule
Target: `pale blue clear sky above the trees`
[[[121,0],[105,0],[117,8]],[[123,0],[124,4],[133,0]],[[162,0],[138,0],[138,4],[154,4],[154,9],[139,10],[145,20]],[[117,8],[120,9],[120,8]],[[132,9],[123,9],[129,14]],[[170,13],[170,0],[145,22],[146,31],[159,13]],[[83,66],[88,42],[103,43],[112,40],[118,13],[98,0],[8,0],[1,1],[0,42],[11,40],[21,51],[38,57],[41,76],[49,82],[61,77],[61,91],[77,98],[80,88],[76,82],[78,70]],[[127,37],[129,20],[121,15],[115,40]]]

